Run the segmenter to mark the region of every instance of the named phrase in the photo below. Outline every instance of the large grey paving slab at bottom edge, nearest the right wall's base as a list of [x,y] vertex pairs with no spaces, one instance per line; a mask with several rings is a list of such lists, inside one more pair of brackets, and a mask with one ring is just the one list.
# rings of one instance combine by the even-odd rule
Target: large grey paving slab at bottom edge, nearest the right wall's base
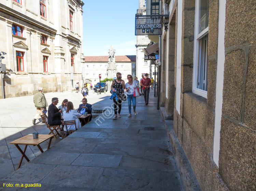
[[182,190],[176,179],[177,172],[134,170],[134,169],[105,169],[97,187],[133,190]]

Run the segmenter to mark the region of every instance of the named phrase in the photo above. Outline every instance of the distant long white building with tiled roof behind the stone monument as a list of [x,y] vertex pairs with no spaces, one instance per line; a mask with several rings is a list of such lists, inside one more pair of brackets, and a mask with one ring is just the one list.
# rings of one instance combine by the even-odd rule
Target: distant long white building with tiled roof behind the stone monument
[[[136,74],[136,56],[115,56],[116,72],[122,74],[122,79],[128,82],[127,75],[131,74],[133,77]],[[85,70],[84,70],[84,83],[92,83],[96,85],[99,82],[99,74],[101,79],[114,78],[108,76],[107,69],[110,64],[109,56],[85,56]]]

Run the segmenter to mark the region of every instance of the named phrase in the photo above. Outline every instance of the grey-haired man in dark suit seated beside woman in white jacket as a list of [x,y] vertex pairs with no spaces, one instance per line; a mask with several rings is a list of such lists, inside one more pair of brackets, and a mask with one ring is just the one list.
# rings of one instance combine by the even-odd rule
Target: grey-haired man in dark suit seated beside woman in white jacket
[[48,124],[49,125],[61,125],[61,112],[62,109],[58,109],[56,105],[59,103],[58,98],[52,99],[52,104],[48,107]]

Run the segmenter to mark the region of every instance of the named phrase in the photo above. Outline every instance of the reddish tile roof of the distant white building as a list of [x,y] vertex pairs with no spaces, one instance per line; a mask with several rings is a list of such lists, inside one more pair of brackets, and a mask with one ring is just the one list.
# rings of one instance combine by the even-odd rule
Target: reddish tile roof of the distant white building
[[[109,62],[109,56],[85,56],[85,62]],[[115,56],[115,62],[136,62],[136,55]]]

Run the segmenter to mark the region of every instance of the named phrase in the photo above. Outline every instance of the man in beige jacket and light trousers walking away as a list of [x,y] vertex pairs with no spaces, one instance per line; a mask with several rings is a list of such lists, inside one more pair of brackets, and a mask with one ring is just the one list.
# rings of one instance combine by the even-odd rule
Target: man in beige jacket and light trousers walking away
[[48,106],[45,96],[43,94],[42,87],[38,87],[38,93],[34,95],[33,101],[34,101],[35,107],[37,108],[37,114],[32,120],[33,125],[35,125],[35,121],[39,118],[42,111],[46,109],[46,107]]

